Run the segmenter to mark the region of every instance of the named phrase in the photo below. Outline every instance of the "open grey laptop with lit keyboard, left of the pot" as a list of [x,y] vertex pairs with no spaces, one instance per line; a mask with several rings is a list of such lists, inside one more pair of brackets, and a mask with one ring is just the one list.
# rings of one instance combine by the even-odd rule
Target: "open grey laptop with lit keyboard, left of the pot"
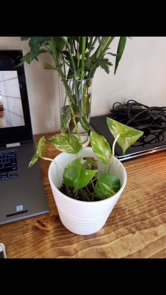
[[0,50],[0,224],[49,212],[35,153],[21,50]]

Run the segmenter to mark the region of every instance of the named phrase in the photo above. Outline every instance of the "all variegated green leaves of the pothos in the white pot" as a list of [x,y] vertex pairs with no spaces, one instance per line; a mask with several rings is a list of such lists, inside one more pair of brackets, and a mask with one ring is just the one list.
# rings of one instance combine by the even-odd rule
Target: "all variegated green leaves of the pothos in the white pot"
[[[135,140],[137,140],[143,134],[143,132],[139,130],[128,127],[110,118],[107,118],[107,124],[109,126],[109,130],[115,137],[113,148],[117,140],[124,152],[126,148],[128,148],[133,142],[135,142]],[[101,160],[101,162],[104,164],[108,164],[108,160],[110,160],[110,167],[114,153],[111,155],[109,143],[102,135],[98,135],[96,132],[91,132],[90,139],[94,153],[97,155],[99,160]],[[57,134],[50,137],[49,141],[53,145],[55,145],[55,147],[59,150],[68,153],[78,153],[78,151],[80,151],[82,148],[82,144],[78,140],[78,138],[71,134]],[[34,154],[34,157],[29,163],[29,167],[31,167],[37,161],[37,157],[41,157],[46,160],[51,160],[55,162],[57,165],[60,165],[55,160],[43,157],[43,151],[48,151],[44,136],[39,140],[37,152]],[[76,160],[70,162],[66,166],[64,171],[61,167],[61,170],[63,172],[64,183],[69,187],[73,187],[73,192],[76,193],[76,195],[77,190],[80,189],[81,193],[83,194],[83,196],[86,196],[88,201],[93,201],[94,196],[103,200],[116,194],[120,189],[119,178],[112,173],[104,172],[97,177],[95,187],[94,184],[92,185],[94,188],[94,192],[93,194],[91,194],[91,200],[89,199],[83,188],[85,187],[88,191],[88,184],[94,181],[92,181],[92,178],[98,172],[98,170],[91,170],[92,163],[93,160],[86,160],[81,166],[80,156]],[[88,169],[86,169],[87,167]]]

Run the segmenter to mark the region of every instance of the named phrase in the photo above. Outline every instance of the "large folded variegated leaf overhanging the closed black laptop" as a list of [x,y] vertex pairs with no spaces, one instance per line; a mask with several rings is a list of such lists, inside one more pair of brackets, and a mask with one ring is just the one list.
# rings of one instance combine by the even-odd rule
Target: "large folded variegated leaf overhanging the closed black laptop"
[[120,135],[117,142],[122,148],[123,154],[126,149],[129,148],[130,145],[132,145],[144,133],[110,118],[107,118],[107,124],[114,138],[116,138],[118,134]]

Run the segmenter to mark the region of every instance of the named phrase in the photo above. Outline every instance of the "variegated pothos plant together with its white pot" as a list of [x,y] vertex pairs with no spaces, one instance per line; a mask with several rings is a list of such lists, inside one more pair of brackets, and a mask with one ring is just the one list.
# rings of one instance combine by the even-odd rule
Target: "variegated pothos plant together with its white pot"
[[[110,118],[107,124],[115,138],[112,151],[107,140],[93,131],[91,148],[82,148],[81,141],[72,134],[56,134],[47,140],[63,153],[55,159],[42,156],[48,151],[43,136],[29,163],[30,168],[39,157],[52,161],[49,180],[60,219],[76,234],[92,234],[103,227],[126,184],[124,166],[114,157],[115,144],[125,153],[143,134]],[[62,187],[65,190],[60,192]]]

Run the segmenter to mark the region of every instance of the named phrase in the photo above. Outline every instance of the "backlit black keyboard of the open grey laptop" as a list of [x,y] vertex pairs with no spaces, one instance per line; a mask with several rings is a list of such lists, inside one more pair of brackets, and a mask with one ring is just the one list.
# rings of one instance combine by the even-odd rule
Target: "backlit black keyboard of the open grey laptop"
[[0,153],[0,180],[18,176],[16,150]]

